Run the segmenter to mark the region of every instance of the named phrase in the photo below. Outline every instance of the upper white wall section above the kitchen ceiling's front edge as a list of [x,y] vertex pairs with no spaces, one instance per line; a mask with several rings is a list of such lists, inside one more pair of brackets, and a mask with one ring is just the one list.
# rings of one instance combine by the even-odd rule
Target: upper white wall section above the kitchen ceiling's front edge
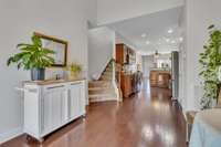
[[97,0],[97,23],[113,23],[182,4],[183,0]]

